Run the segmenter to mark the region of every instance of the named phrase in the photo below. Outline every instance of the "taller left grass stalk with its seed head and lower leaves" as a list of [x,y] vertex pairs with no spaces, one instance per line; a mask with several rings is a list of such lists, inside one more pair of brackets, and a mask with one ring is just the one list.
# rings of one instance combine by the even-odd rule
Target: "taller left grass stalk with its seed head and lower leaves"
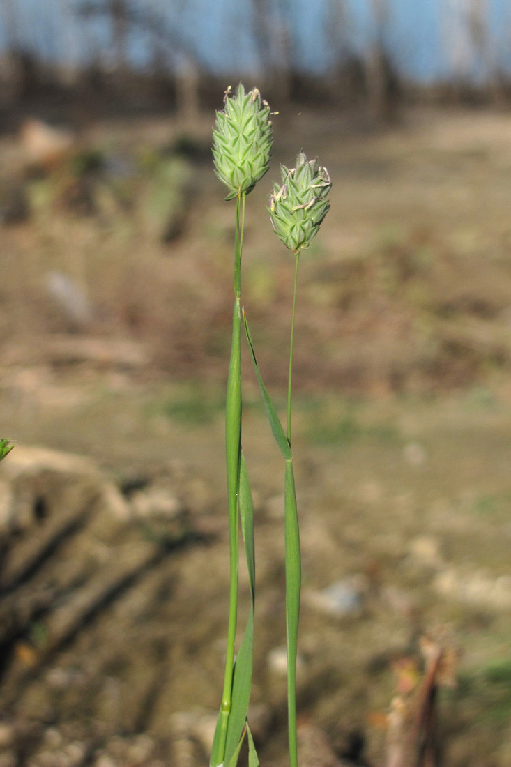
[[[252,686],[252,649],[254,636],[255,555],[253,542],[253,505],[241,448],[242,376],[241,376],[241,264],[245,223],[246,194],[268,170],[272,152],[272,123],[269,105],[254,88],[246,94],[240,84],[236,95],[226,92],[225,109],[216,114],[213,132],[213,158],[216,175],[226,184],[226,200],[236,198],[236,234],[234,248],[234,308],[232,343],[226,397],[226,471],[229,508],[229,624],[223,696],[210,763],[236,765],[246,732],[246,716]],[[252,591],[252,608],[246,631],[235,661],[239,583],[239,526],[245,542],[247,568]],[[249,739],[252,762],[255,757]]]

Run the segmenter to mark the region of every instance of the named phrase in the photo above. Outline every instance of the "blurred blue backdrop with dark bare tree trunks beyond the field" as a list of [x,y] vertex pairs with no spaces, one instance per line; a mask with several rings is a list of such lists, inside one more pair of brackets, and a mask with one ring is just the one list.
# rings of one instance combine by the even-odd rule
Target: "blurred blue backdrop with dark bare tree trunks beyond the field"
[[2,100],[74,90],[199,108],[211,81],[250,76],[281,100],[488,103],[509,91],[510,17],[506,0],[5,0]]

